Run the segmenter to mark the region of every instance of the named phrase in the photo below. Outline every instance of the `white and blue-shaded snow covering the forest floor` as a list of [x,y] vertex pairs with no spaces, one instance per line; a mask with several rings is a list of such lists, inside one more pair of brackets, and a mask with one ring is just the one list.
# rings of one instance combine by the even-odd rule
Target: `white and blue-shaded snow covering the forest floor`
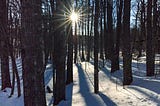
[[[120,65],[122,66],[122,60],[120,60]],[[133,60],[133,83],[123,86],[122,67],[111,74],[110,61],[105,61],[105,67],[99,69],[100,92],[95,94],[93,61],[74,64],[73,84],[66,86],[66,100],[60,102],[58,106],[160,106],[160,75],[146,77],[145,67],[145,56],[138,61]],[[21,76],[21,69],[19,73]],[[48,64],[44,78],[45,85],[51,89],[53,88],[52,74],[52,65]],[[0,106],[23,106],[23,95],[17,98],[17,93],[15,93],[13,97],[8,98],[9,94],[9,88],[5,92],[0,91]],[[52,97],[52,93],[46,91],[48,106],[52,106]]]

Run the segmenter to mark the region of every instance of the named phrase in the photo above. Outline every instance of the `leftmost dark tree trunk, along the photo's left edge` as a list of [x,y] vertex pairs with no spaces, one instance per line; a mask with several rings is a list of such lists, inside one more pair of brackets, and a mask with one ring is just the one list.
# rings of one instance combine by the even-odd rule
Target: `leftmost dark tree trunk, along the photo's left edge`
[[9,73],[9,54],[8,54],[8,35],[7,35],[7,1],[0,0],[0,58],[1,58],[1,78],[2,78],[2,90],[6,87],[11,88],[11,80]]

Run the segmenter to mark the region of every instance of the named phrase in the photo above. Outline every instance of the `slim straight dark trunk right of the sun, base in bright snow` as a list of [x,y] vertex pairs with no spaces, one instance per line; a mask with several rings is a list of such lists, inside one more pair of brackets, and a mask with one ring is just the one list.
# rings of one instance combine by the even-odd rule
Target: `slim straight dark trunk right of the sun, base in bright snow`
[[98,32],[98,19],[99,19],[99,0],[95,0],[95,17],[94,17],[94,92],[99,91],[99,78],[98,78],[98,51],[99,51],[99,32]]

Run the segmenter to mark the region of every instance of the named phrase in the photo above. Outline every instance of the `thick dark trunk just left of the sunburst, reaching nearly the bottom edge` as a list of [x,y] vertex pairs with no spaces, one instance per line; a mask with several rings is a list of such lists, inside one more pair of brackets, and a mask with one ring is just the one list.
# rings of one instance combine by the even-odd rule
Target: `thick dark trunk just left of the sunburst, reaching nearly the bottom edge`
[[65,18],[62,15],[64,14],[62,9],[64,8],[65,0],[57,1],[57,8],[55,14],[55,25],[58,28],[55,30],[54,36],[54,64],[56,70],[55,78],[55,92],[54,92],[54,105],[57,105],[61,100],[65,100],[65,60],[66,60],[66,44],[65,44],[65,26],[59,26],[63,24],[63,19]]

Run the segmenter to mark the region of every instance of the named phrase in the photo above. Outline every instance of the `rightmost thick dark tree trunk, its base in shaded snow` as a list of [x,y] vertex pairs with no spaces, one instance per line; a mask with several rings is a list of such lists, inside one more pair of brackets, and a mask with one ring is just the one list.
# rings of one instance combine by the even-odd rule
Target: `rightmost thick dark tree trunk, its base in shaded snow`
[[147,76],[154,75],[154,52],[152,33],[152,0],[148,0],[147,5],[147,42],[146,42],[146,65]]

